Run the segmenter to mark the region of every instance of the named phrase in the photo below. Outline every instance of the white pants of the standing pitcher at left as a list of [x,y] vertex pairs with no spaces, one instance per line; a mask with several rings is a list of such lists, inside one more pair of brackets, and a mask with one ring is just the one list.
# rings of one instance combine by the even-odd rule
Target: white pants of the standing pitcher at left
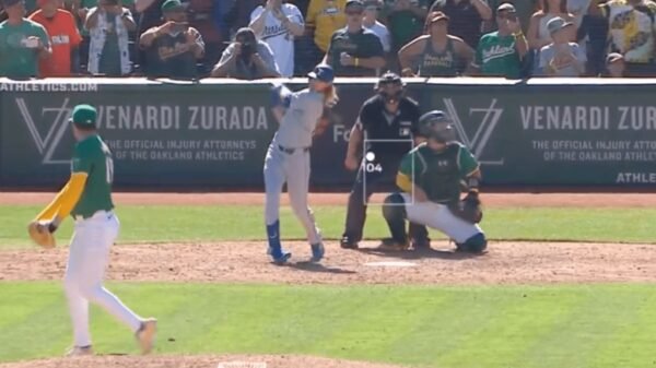
[[136,332],[141,318],[103,287],[109,263],[109,249],[120,224],[112,212],[98,211],[87,219],[75,221],[63,285],[73,323],[75,346],[91,345],[89,302],[95,302]]

